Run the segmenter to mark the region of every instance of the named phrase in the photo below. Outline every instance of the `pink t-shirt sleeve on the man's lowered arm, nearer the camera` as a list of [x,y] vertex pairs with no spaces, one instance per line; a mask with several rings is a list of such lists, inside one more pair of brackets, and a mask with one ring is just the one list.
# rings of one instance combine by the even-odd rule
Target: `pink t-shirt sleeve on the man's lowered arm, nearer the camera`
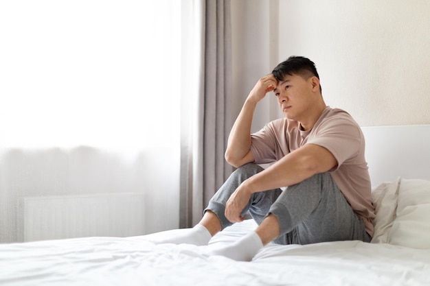
[[361,133],[357,123],[348,119],[328,120],[321,124],[306,144],[325,147],[337,160],[337,168],[352,163],[361,148]]

